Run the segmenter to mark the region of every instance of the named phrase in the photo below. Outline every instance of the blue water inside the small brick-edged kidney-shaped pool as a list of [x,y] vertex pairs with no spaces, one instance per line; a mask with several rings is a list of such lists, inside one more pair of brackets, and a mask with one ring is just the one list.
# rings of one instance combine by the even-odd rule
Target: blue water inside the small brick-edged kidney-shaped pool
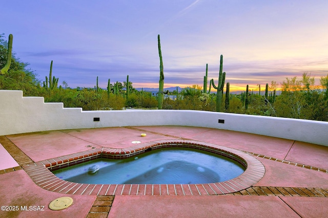
[[[89,168],[98,168],[94,173]],[[60,179],[89,184],[201,184],[223,182],[245,168],[226,157],[191,148],[161,148],[128,159],[99,158],[54,170]]]

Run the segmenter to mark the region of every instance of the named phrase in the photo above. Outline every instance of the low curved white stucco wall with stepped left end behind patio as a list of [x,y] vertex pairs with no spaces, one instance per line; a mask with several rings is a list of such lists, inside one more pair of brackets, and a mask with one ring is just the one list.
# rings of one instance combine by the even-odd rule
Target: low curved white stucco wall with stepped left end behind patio
[[[235,130],[328,146],[328,122],[189,110],[83,111],[22,91],[0,90],[0,135],[43,130],[135,125],[184,125]],[[99,117],[100,121],[93,121]],[[218,119],[224,123],[218,123]]]

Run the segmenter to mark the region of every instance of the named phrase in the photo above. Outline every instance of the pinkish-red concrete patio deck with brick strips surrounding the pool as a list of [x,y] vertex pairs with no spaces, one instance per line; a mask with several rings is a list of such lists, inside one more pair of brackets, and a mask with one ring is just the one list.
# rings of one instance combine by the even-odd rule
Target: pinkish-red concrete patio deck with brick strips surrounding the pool
[[[147,133],[141,137],[140,133]],[[41,188],[26,164],[97,148],[126,148],[132,141],[184,139],[235,148],[258,159],[263,178],[250,188],[214,195],[65,194]],[[328,147],[310,143],[190,126],[130,126],[54,130],[0,136],[0,217],[326,217]],[[101,189],[101,188],[100,188]],[[100,190],[99,190],[100,191]],[[98,192],[99,193],[99,192]],[[53,211],[49,203],[71,197]],[[23,208],[21,207],[23,206]],[[26,211],[24,206],[44,206]],[[28,208],[28,207],[27,207]],[[6,208],[5,208],[6,209]],[[41,207],[40,207],[41,209]]]

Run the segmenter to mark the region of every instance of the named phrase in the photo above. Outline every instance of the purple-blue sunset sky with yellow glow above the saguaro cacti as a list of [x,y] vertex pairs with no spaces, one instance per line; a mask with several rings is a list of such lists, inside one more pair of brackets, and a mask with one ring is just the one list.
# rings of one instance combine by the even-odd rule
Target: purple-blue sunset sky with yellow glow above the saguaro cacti
[[[160,34],[165,87],[216,84],[220,55],[231,91],[328,74],[328,1],[11,0],[1,4],[0,34],[42,81],[71,88],[126,81],[156,88]],[[58,85],[59,85],[58,84]]]

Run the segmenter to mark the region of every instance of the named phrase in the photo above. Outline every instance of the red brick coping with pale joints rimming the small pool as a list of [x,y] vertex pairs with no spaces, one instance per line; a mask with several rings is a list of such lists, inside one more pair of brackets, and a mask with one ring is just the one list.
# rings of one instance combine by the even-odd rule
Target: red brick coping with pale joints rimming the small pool
[[[129,158],[148,150],[165,147],[185,147],[210,151],[233,159],[245,171],[238,177],[217,183],[206,184],[81,184],[56,177],[51,170],[76,165],[97,158]],[[66,194],[87,195],[216,195],[247,189],[262,179],[263,164],[243,151],[212,143],[193,140],[158,140],[135,144],[127,148],[92,148],[58,158],[25,164],[24,170],[39,187]]]

